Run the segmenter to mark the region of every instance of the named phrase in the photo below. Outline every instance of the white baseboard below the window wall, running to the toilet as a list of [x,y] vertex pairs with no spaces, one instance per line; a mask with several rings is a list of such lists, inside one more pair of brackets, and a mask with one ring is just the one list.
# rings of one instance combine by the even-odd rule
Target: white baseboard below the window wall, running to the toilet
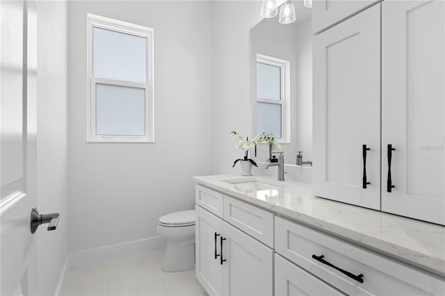
[[167,246],[167,240],[160,236],[153,238],[145,238],[143,240],[133,240],[131,242],[123,242],[117,245],[109,245],[106,247],[98,247],[95,249],[86,249],[79,252],[72,252],[68,256],[68,268],[79,268],[85,265],[101,263],[108,260],[141,254],[153,251],[155,249],[163,249]]

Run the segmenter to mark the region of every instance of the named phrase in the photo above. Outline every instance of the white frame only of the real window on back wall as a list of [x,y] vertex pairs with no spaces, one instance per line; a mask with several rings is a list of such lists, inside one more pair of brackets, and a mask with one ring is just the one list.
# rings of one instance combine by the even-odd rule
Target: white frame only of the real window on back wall
[[[119,33],[136,35],[147,38],[147,83],[136,83],[120,81],[115,79],[95,78],[92,76],[92,28],[104,28]],[[88,85],[88,120],[87,120],[87,142],[154,142],[154,30],[146,26],[130,24],[117,19],[101,17],[99,15],[87,14],[87,85]],[[127,86],[131,88],[145,89],[145,135],[97,135],[96,133],[96,85],[108,84]]]

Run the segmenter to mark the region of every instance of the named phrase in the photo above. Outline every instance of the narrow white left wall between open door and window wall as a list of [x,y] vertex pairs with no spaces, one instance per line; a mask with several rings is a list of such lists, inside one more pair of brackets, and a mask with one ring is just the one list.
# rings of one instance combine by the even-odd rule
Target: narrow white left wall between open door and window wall
[[54,295],[68,254],[67,213],[67,3],[38,1],[37,207],[60,213],[55,231],[42,225],[38,295]]

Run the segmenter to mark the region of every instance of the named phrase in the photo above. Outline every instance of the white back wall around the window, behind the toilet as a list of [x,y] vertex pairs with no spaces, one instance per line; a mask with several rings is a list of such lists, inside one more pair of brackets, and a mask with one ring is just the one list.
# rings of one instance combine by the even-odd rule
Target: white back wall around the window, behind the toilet
[[[154,144],[86,142],[86,14],[154,28]],[[70,252],[157,236],[211,173],[208,1],[68,3]]]

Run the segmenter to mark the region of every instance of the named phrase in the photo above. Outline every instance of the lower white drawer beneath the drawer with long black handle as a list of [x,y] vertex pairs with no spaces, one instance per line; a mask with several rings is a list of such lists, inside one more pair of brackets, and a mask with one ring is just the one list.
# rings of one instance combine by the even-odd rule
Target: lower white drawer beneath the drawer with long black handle
[[275,296],[345,295],[321,279],[275,254]]

